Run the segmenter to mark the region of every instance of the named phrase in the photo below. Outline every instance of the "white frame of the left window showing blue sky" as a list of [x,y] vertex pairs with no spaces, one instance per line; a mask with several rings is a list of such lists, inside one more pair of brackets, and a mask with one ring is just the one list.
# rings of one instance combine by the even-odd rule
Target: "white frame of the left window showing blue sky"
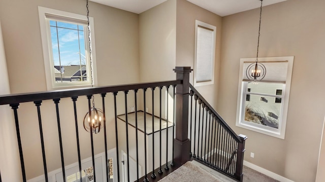
[[[56,83],[54,77],[54,63],[53,63],[53,53],[51,45],[51,32],[49,19],[46,18],[47,15],[51,17],[57,17],[58,21],[87,21],[86,15],[79,15],[70,12],[64,12],[60,10],[54,10],[45,7],[38,7],[39,9],[39,19],[40,19],[40,28],[41,28],[41,37],[43,45],[43,57],[44,57],[44,67],[45,67],[45,76],[46,76],[46,86],[47,90],[56,90],[56,89],[70,89],[70,88],[82,88],[82,87],[91,87],[91,79],[83,82],[64,82]],[[69,21],[70,20],[70,21]],[[93,17],[89,17],[89,26],[90,26],[90,39],[91,39],[91,55],[92,55],[92,78],[93,85],[97,86],[97,74],[96,74],[96,53],[95,53],[95,37],[94,37],[94,24]],[[85,26],[84,31],[88,34],[88,27]],[[88,36],[85,37],[86,40],[86,62],[87,62],[87,74],[90,75],[90,61],[89,61],[89,41]]]

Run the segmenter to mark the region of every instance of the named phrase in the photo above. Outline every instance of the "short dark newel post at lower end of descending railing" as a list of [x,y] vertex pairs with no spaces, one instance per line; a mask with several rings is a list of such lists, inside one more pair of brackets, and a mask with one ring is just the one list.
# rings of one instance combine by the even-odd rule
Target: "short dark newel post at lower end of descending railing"
[[244,153],[245,153],[245,140],[247,136],[238,135],[242,142],[238,142],[238,150],[237,150],[237,163],[236,163],[236,172],[235,178],[239,181],[243,181],[243,163],[244,163]]

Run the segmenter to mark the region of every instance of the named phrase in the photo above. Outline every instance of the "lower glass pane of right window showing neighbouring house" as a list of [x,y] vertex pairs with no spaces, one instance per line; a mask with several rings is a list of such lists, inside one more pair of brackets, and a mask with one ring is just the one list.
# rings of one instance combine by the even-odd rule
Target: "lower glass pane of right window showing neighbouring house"
[[281,104],[275,99],[250,94],[250,101],[245,102],[245,121],[279,128]]

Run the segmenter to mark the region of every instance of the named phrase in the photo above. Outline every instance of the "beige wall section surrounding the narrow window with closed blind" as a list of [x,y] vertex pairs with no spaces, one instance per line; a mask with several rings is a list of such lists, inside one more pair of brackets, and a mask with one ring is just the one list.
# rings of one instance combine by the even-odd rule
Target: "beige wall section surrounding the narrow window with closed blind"
[[[176,66],[194,68],[195,20],[216,26],[214,84],[196,87],[216,108],[219,87],[221,17],[185,0],[177,0]],[[193,84],[193,71],[190,74],[190,83]]]

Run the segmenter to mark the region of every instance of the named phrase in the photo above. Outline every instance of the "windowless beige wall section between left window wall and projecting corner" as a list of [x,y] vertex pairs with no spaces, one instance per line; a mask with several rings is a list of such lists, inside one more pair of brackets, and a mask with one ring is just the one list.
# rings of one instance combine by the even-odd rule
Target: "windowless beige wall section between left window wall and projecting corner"
[[141,82],[175,80],[176,1],[139,15]]

